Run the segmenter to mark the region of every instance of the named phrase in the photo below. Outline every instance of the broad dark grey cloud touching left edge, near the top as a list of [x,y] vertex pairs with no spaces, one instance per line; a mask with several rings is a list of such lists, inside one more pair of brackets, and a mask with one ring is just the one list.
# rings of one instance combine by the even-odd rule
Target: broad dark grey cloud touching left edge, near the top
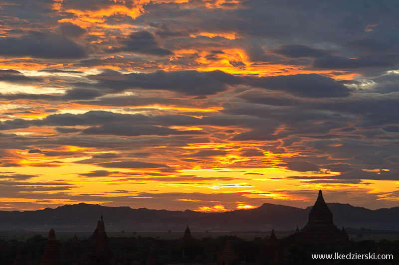
[[31,32],[21,37],[0,38],[0,55],[35,58],[82,58],[86,50],[60,35]]

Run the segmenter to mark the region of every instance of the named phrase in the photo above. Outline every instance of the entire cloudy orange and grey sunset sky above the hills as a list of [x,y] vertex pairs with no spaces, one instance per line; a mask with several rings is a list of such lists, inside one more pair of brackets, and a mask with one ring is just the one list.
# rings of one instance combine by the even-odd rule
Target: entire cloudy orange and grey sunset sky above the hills
[[399,202],[395,0],[1,0],[0,210]]

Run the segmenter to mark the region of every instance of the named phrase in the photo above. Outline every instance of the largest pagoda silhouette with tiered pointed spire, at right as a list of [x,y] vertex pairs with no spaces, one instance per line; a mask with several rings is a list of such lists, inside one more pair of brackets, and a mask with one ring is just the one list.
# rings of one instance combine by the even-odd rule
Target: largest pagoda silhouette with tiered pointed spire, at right
[[333,213],[328,208],[319,190],[319,196],[309,213],[308,224],[295,233],[299,240],[309,241],[348,241],[348,234],[344,228],[338,229],[333,223]]

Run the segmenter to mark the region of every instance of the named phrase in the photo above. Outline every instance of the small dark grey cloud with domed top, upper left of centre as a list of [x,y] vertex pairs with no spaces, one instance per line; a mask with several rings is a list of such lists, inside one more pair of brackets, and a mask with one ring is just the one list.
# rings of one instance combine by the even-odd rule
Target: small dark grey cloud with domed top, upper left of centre
[[118,40],[122,47],[112,48],[110,52],[137,52],[146,55],[168,56],[173,55],[171,50],[159,46],[155,36],[145,30],[136,31],[129,37]]

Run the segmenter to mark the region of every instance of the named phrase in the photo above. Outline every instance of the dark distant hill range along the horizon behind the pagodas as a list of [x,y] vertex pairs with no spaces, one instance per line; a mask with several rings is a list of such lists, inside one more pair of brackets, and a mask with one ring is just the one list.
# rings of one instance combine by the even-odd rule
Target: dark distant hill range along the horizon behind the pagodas
[[[334,223],[353,229],[399,231],[399,207],[369,210],[349,204],[328,203]],[[94,231],[104,216],[107,231],[270,231],[304,227],[312,207],[306,209],[265,203],[254,209],[221,213],[106,207],[93,204],[64,205],[37,211],[0,211],[0,230]]]

